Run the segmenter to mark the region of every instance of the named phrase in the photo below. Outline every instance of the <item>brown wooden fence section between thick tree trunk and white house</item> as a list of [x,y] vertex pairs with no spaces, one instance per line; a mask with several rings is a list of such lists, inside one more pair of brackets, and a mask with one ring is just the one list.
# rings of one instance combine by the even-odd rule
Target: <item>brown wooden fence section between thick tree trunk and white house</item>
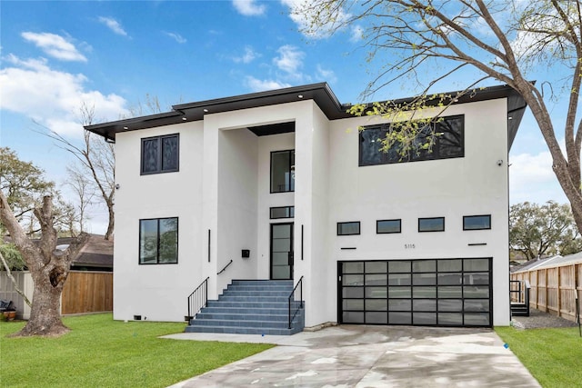
[[113,311],[113,273],[71,271],[61,297],[61,313]]

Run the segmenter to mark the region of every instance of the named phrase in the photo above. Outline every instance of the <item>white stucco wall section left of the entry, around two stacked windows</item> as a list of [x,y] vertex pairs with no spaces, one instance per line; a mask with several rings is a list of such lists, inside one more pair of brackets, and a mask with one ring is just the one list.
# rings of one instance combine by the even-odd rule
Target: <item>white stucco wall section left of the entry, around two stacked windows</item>
[[[114,319],[183,321],[186,297],[204,279],[201,123],[117,134],[115,143]],[[141,139],[180,134],[180,171],[140,175]],[[178,264],[138,264],[139,220],[178,217]]]

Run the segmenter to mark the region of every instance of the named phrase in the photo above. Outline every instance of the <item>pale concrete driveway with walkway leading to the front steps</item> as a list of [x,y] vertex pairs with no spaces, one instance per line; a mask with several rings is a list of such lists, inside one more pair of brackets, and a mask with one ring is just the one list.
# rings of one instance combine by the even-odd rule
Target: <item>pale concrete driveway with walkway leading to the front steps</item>
[[291,336],[180,333],[166,338],[276,343],[183,387],[539,387],[488,329],[343,325]]

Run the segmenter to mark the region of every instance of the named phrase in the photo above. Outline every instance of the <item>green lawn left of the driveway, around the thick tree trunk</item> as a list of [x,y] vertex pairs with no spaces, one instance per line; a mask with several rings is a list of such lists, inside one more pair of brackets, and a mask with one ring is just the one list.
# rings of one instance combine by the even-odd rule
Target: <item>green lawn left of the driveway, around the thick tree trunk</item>
[[0,323],[0,386],[164,387],[273,347],[157,338],[186,323],[117,322],[110,313],[65,317],[59,338],[7,338]]

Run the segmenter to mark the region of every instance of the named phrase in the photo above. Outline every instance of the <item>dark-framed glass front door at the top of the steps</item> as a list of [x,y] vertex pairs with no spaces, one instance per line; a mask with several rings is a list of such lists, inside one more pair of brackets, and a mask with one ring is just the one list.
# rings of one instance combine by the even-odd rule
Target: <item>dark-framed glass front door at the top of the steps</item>
[[293,279],[293,223],[271,224],[271,279]]

